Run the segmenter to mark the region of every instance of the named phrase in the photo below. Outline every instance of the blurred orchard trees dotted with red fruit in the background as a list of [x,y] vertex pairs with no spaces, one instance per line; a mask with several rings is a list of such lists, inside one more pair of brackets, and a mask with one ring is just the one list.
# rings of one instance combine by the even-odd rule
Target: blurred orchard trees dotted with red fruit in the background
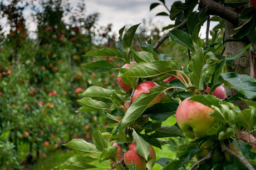
[[[36,36],[27,30],[23,12],[28,8]],[[82,68],[95,60],[83,54],[96,47],[115,48],[118,36],[112,24],[96,28],[99,13],[86,14],[83,2],[72,8],[68,1],[2,0],[0,14],[7,19],[0,27],[0,169],[25,168],[62,143],[90,140],[96,128],[108,126],[103,112],[76,113],[76,100],[89,86],[119,88],[117,71],[95,74]],[[3,32],[3,27],[9,30]],[[160,32],[145,20],[137,35],[155,43]],[[186,49],[176,49],[166,41],[160,51],[182,61]],[[102,59],[124,65],[114,57]]]

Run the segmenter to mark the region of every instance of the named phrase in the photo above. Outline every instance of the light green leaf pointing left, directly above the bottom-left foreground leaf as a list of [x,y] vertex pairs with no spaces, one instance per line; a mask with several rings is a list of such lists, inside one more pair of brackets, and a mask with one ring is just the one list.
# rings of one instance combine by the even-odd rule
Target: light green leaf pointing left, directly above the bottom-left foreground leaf
[[63,145],[84,153],[101,153],[94,144],[83,139],[72,139],[72,141]]

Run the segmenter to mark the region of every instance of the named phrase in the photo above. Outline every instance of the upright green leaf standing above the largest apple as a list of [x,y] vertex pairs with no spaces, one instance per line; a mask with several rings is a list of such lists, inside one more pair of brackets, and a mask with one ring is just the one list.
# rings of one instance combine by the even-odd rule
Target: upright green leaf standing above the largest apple
[[191,61],[189,63],[189,68],[192,73],[190,75],[190,79],[193,82],[194,86],[200,91],[203,89],[203,82],[201,80],[203,74],[203,67],[205,63],[205,56],[202,51],[196,52],[194,56],[191,57]]

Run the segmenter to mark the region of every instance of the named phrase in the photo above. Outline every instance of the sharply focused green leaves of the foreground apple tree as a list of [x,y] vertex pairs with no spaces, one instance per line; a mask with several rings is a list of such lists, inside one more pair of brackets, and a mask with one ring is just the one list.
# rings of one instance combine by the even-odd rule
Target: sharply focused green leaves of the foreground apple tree
[[[248,3],[248,1],[221,1],[219,3],[224,4],[224,6],[238,7],[245,4],[245,2]],[[161,1],[161,3],[165,6],[165,1]],[[256,80],[245,74],[227,72],[225,69],[227,65],[234,67],[234,59],[248,50],[250,44],[239,53],[232,56],[223,56],[223,53],[219,54],[220,48],[223,48],[223,44],[220,41],[216,41],[218,36],[221,36],[223,33],[218,31],[212,32],[213,38],[210,43],[206,39],[206,42],[202,44],[199,31],[200,27],[206,21],[207,14],[203,9],[193,12],[196,4],[198,4],[198,1],[175,2],[170,10],[170,19],[175,20],[175,26],[180,26],[180,24],[184,26],[183,22],[185,22],[184,27],[179,27],[180,29],[174,28],[168,33],[171,43],[178,43],[188,48],[188,56],[191,56],[191,59],[184,67],[181,67],[179,62],[174,58],[157,51],[157,46],[154,47],[150,43],[141,41],[139,37],[137,37],[137,41],[140,44],[141,51],[137,52],[132,49],[132,42],[134,41],[135,32],[139,24],[130,27],[125,33],[125,27],[120,29],[119,42],[116,44],[117,49],[92,49],[85,54],[85,57],[116,57],[125,61],[127,64],[131,62],[137,63],[126,69],[117,68],[108,61],[99,60],[85,64],[84,67],[88,72],[96,73],[118,69],[120,71],[119,77],[133,87],[134,91],[137,85],[144,81],[154,81],[159,83],[160,86],[150,88],[149,93],[142,93],[134,102],[130,102],[130,106],[125,113],[120,107],[126,101],[132,101],[134,91],[132,93],[125,93],[116,89],[106,89],[96,86],[87,88],[81,94],[83,98],[78,100],[82,105],[80,112],[104,110],[107,121],[118,124],[117,126],[106,129],[104,133],[100,131],[94,132],[92,135],[94,144],[83,141],[82,139],[73,139],[65,144],[67,147],[85,153],[86,156],[72,157],[58,168],[95,168],[88,163],[98,160],[100,162],[109,161],[110,167],[106,168],[128,169],[123,164],[123,160],[116,161],[115,153],[117,147],[108,146],[108,143],[114,140],[122,146],[123,152],[127,152],[127,146],[134,141],[137,145],[136,152],[147,160],[150,144],[161,148],[164,144],[170,143],[166,138],[185,137],[178,124],[163,126],[162,123],[168,117],[174,116],[180,101],[190,97],[192,101],[200,102],[205,106],[213,108],[214,111],[210,112],[209,115],[215,117],[218,121],[208,129],[206,137],[195,138],[194,141],[187,141],[176,148],[177,159],[160,158],[155,163],[159,163],[163,166],[163,169],[179,169],[181,167],[191,167],[193,169],[196,166],[202,169],[218,169],[219,167],[223,167],[224,169],[244,169],[245,167],[253,169],[253,166],[256,165],[254,161],[255,153],[253,153],[255,151],[249,146],[249,143],[255,144],[255,141],[250,141],[250,139],[249,141],[247,140],[247,143],[239,141],[240,138],[243,138],[243,136],[239,136],[239,131],[244,130],[247,134],[255,134],[256,102],[253,100],[256,98]],[[160,3],[153,3],[150,9],[159,5]],[[252,31],[252,26],[255,27],[255,13],[251,17],[249,15],[252,11],[255,12],[255,9],[252,9],[252,7],[245,8],[242,11],[240,18],[247,18],[248,20],[237,28],[237,33],[233,35],[233,38],[240,39],[248,36],[249,32]],[[159,13],[157,15],[165,14]],[[210,20],[218,20],[219,25],[216,27],[223,29],[221,18],[215,16],[211,17]],[[177,74],[182,76],[179,77]],[[175,76],[178,79],[164,82],[164,79],[170,76]],[[208,94],[205,92],[206,84],[210,87]],[[221,84],[225,88],[233,89],[238,93],[234,96],[228,96],[225,99],[216,98],[211,95],[215,88]],[[173,89],[173,91],[168,91],[169,89]],[[152,107],[147,108],[163,92],[166,94],[166,101],[156,103]],[[239,108],[235,104],[235,101],[238,100],[247,103],[248,108]],[[115,118],[116,116],[122,116],[122,119],[119,121]],[[150,120],[146,123],[139,123],[140,119],[145,117],[150,117]],[[205,156],[202,160],[196,162],[194,159],[195,154],[201,151],[200,147],[205,141],[211,139],[217,140],[217,142],[213,146],[210,146],[210,150],[213,151],[215,148],[221,147],[222,151],[220,153],[223,154],[221,155],[223,157],[224,154],[231,153],[229,152],[231,150],[229,147],[233,144],[235,148],[238,150],[240,148],[241,151],[233,148],[235,152],[233,152],[234,154],[231,153],[232,157],[223,158],[218,163],[211,161],[212,155],[209,152],[209,156]],[[248,151],[248,153],[245,151]],[[88,157],[88,154],[91,157]],[[133,165],[129,169],[135,169],[135,167],[136,165]],[[152,161],[147,162],[146,168],[152,168]]]

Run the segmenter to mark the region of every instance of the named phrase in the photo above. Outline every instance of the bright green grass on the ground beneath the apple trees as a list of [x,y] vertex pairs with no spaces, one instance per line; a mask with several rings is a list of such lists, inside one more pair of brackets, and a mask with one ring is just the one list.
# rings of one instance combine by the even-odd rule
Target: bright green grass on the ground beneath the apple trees
[[[163,126],[171,126],[176,123],[176,119],[174,116],[169,117],[164,123]],[[159,158],[170,158],[175,159],[176,153],[171,151],[168,148],[168,144],[162,146],[162,149],[156,148],[156,159]],[[66,159],[73,157],[73,156],[79,156],[83,155],[81,152],[73,151],[70,149],[57,149],[57,150],[51,150],[47,153],[47,155],[43,155],[40,157],[38,162],[29,169],[56,169],[55,167],[60,166],[62,163],[66,161]],[[99,163],[99,161],[92,162],[90,164],[93,164],[97,167],[106,167],[110,168],[109,164],[107,162]],[[101,169],[101,168],[94,168],[94,169]],[[155,166],[153,169],[162,169],[162,166],[160,164],[155,163]]]

